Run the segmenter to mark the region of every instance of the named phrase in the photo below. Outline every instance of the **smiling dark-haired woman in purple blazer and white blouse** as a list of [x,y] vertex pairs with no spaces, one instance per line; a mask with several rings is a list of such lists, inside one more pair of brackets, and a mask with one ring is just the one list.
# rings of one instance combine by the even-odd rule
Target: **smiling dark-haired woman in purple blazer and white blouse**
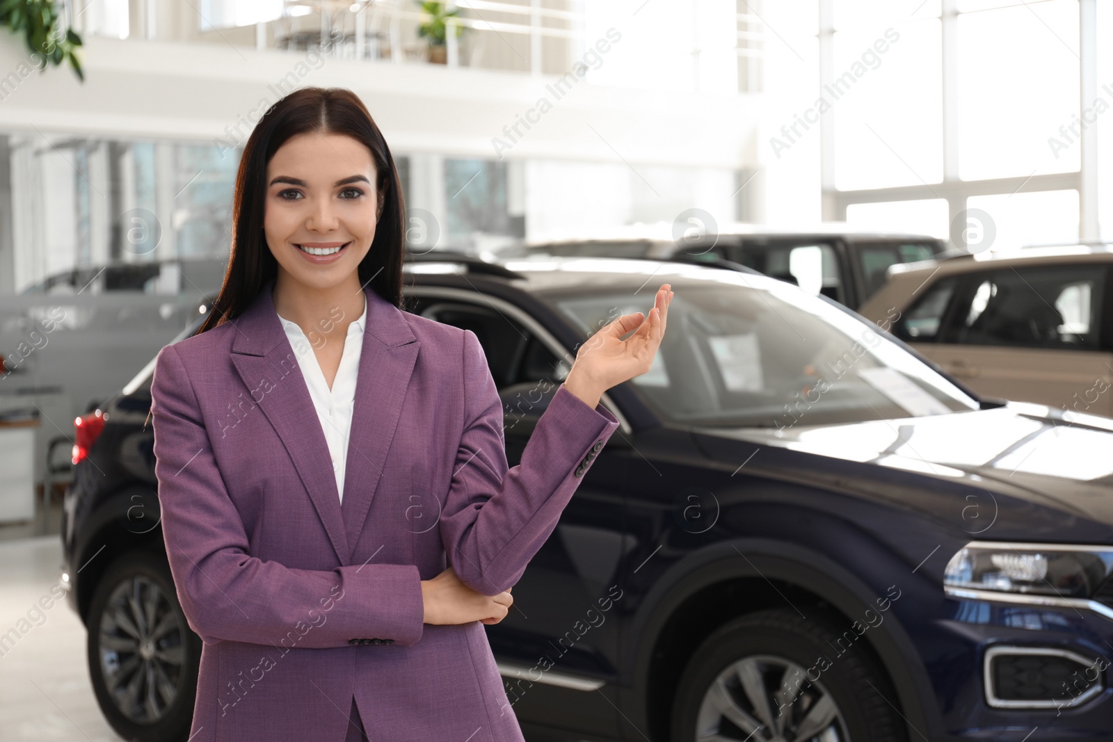
[[649,369],[668,285],[580,347],[511,469],[475,335],[400,309],[398,177],[352,92],[266,112],[233,218],[211,315],[151,385],[162,533],[204,640],[190,742],[521,742],[482,624],[618,427],[600,395]]

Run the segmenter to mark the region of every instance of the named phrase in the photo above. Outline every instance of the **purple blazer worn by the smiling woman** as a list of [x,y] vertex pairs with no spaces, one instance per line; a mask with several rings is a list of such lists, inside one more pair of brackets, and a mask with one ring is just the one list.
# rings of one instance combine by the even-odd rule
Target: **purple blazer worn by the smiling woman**
[[474,333],[365,288],[342,506],[273,286],[155,366],[162,535],[204,641],[190,742],[343,742],[353,700],[376,742],[522,742],[483,624],[424,624],[420,581],[513,586],[618,419],[561,385],[509,468]]

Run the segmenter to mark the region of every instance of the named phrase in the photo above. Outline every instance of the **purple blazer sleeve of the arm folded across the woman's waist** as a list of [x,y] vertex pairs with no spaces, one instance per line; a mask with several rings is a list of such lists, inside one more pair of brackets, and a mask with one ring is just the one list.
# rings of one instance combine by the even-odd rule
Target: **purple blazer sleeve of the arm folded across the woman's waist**
[[[295,570],[248,553],[197,395],[173,345],[151,382],[155,474],[170,572],[189,626],[219,640],[345,646],[349,639],[421,639],[424,603],[412,564]],[[292,533],[290,537],[296,537]]]

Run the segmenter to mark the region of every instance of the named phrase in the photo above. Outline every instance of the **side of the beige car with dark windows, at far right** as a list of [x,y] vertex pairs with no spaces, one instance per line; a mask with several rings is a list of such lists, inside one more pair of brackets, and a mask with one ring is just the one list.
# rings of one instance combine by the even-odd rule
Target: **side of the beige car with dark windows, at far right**
[[896,334],[979,394],[1109,416],[1109,274],[1064,264],[949,276]]

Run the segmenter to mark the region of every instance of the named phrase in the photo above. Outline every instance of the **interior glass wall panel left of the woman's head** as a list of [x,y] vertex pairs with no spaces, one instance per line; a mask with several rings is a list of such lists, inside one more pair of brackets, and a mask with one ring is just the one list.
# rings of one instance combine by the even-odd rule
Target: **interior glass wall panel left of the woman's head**
[[10,135],[12,290],[73,269],[225,259],[239,151]]

